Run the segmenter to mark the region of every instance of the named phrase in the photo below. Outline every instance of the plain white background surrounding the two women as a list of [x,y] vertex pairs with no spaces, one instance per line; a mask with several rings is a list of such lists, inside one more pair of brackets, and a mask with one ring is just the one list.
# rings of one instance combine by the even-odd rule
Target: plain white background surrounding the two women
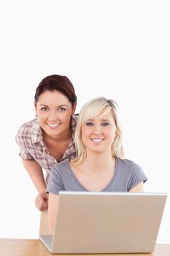
[[[142,166],[147,192],[169,187],[169,1],[1,1],[1,238],[38,238],[36,189],[15,143],[34,118],[47,75],[67,75],[79,112],[93,97],[115,99],[125,157]],[[158,234],[170,244],[170,200]]]

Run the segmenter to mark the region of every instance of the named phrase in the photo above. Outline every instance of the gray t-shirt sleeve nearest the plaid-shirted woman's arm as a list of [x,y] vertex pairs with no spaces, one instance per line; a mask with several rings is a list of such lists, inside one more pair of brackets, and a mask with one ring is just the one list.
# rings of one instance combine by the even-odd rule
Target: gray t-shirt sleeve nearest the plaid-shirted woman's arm
[[50,172],[50,178],[47,185],[47,192],[58,195],[58,193],[64,189],[63,178],[57,167],[58,164],[54,165]]

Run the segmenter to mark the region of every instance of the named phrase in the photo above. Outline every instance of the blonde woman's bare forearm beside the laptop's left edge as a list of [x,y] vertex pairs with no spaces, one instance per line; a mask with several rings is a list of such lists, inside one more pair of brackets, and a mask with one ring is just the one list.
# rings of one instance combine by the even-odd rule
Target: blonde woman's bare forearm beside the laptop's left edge
[[57,213],[58,195],[49,193],[48,199],[48,229],[49,233],[53,234],[53,228],[55,225],[55,216]]

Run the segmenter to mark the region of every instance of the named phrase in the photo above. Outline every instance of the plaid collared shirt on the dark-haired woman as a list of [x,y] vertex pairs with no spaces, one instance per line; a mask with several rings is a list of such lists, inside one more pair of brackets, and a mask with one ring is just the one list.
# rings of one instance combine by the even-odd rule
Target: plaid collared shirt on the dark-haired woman
[[[66,149],[65,154],[61,161],[66,158],[76,157],[75,145],[74,145],[74,132],[77,124],[77,115],[72,116],[72,132],[73,137]],[[36,160],[39,165],[46,171],[46,183],[50,176],[50,170],[57,163],[56,159],[50,156],[45,142],[42,137],[42,129],[39,126],[39,122],[34,119],[23,124],[18,130],[18,134],[15,137],[16,143],[20,148],[20,157],[23,160]],[[60,146],[60,145],[58,145]]]

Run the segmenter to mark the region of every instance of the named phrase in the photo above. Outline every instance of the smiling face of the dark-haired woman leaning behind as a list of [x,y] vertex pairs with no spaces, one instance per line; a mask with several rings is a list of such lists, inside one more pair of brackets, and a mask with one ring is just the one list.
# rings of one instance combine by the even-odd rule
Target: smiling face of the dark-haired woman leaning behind
[[39,125],[47,135],[60,138],[69,131],[70,118],[76,105],[72,107],[69,99],[60,91],[45,91],[35,105]]

